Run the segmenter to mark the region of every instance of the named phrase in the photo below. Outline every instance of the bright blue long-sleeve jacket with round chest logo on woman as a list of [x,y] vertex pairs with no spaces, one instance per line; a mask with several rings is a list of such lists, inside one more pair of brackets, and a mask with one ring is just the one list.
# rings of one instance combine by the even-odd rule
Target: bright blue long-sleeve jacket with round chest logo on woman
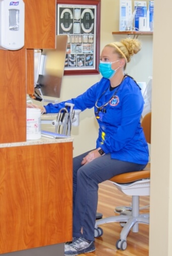
[[110,90],[110,81],[102,78],[76,98],[49,103],[45,106],[46,112],[58,113],[65,102],[73,103],[74,109],[81,111],[94,107],[99,123],[96,148],[101,147],[111,158],[121,161],[138,164],[149,161],[148,144],[140,123],[144,99],[131,77],[125,76],[113,90]]

